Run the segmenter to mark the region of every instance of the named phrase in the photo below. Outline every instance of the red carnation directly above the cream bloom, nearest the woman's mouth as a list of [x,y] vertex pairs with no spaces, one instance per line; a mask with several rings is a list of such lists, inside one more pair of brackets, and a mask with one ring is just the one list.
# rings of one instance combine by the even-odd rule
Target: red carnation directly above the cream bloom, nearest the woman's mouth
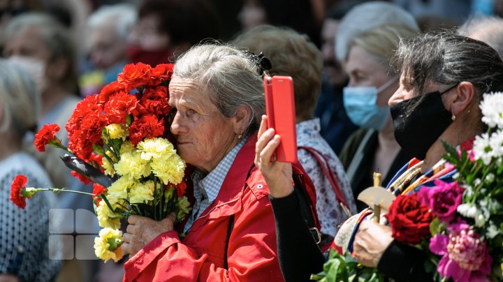
[[162,137],[164,133],[164,120],[157,119],[154,114],[147,114],[136,119],[129,127],[129,139],[135,146],[145,138]]

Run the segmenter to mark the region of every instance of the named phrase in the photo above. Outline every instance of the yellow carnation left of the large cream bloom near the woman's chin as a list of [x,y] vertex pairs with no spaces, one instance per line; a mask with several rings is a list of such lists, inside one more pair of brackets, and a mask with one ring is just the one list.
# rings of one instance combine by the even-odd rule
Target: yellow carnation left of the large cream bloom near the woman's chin
[[127,175],[135,179],[150,175],[150,165],[148,161],[141,158],[140,151],[126,152],[120,158],[120,161],[114,165],[117,174]]

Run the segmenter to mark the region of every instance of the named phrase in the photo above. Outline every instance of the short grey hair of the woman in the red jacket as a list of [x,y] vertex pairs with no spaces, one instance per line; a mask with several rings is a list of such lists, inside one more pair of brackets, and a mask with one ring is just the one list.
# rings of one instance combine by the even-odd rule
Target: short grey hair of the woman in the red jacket
[[224,117],[233,117],[240,106],[251,110],[245,134],[258,129],[265,114],[263,80],[258,66],[238,47],[205,43],[191,47],[178,58],[173,77],[201,87]]

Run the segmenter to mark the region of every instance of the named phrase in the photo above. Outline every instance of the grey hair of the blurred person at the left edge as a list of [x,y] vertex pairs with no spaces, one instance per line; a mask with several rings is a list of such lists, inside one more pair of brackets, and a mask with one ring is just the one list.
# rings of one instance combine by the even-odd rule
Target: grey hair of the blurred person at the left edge
[[0,59],[0,133],[13,131],[20,138],[36,128],[41,101],[31,76],[15,64]]

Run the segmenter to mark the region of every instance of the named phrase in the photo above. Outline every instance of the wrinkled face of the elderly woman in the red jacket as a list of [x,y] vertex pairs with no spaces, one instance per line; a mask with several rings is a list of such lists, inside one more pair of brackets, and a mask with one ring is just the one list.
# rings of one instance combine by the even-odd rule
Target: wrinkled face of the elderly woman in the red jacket
[[176,137],[178,154],[190,165],[206,173],[212,171],[237,144],[235,118],[224,117],[191,80],[173,77],[169,91],[169,104],[176,109],[171,133]]

